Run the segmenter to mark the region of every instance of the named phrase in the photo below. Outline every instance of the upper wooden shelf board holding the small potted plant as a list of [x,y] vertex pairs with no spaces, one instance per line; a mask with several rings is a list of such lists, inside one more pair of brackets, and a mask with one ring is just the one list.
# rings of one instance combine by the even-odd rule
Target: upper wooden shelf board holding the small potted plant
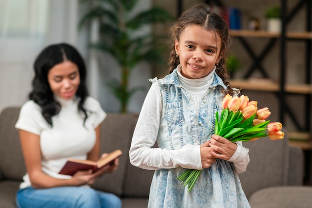
[[[269,32],[265,30],[230,30],[231,36],[236,37],[280,37],[279,32]],[[294,39],[312,39],[312,32],[286,32],[286,37]]]

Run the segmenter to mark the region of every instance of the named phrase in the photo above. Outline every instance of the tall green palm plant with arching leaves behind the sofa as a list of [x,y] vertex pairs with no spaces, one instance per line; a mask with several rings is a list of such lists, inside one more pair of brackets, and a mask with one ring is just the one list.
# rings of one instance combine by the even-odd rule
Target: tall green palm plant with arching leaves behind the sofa
[[142,26],[172,20],[163,8],[153,6],[147,10],[136,11],[138,0],[82,0],[92,2],[92,6],[81,17],[79,27],[97,19],[99,22],[99,41],[91,42],[90,47],[110,54],[121,69],[120,79],[107,83],[113,95],[121,104],[121,112],[134,93],[142,87],[129,89],[129,78],[134,67],[142,62],[159,62],[161,51],[156,47],[156,37],[152,34],[133,35]]

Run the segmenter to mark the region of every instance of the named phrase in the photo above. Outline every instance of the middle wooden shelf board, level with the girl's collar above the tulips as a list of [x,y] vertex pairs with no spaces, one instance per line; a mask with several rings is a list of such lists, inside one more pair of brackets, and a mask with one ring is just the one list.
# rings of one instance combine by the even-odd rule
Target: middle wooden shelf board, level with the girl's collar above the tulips
[[[242,90],[256,90],[279,92],[280,86],[278,83],[264,80],[264,79],[250,79],[250,80],[231,80],[231,87],[241,88]],[[312,94],[312,85],[308,84],[289,84],[285,86],[285,92],[296,94]]]

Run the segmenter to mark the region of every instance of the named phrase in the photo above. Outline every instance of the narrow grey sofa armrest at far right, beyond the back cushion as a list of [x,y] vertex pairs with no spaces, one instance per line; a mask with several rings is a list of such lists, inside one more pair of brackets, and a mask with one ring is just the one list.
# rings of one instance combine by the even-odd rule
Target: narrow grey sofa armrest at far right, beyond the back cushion
[[289,167],[288,181],[289,186],[303,185],[304,181],[304,153],[299,147],[289,147]]

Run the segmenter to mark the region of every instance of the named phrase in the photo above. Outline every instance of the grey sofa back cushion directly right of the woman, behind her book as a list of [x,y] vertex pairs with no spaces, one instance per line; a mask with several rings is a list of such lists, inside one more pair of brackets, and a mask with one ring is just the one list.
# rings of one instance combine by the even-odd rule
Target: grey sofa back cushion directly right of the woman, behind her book
[[119,158],[118,170],[111,174],[104,174],[93,188],[123,195],[123,188],[129,162],[129,149],[137,116],[132,114],[107,113],[101,126],[101,152],[111,152],[120,149],[123,155]]

